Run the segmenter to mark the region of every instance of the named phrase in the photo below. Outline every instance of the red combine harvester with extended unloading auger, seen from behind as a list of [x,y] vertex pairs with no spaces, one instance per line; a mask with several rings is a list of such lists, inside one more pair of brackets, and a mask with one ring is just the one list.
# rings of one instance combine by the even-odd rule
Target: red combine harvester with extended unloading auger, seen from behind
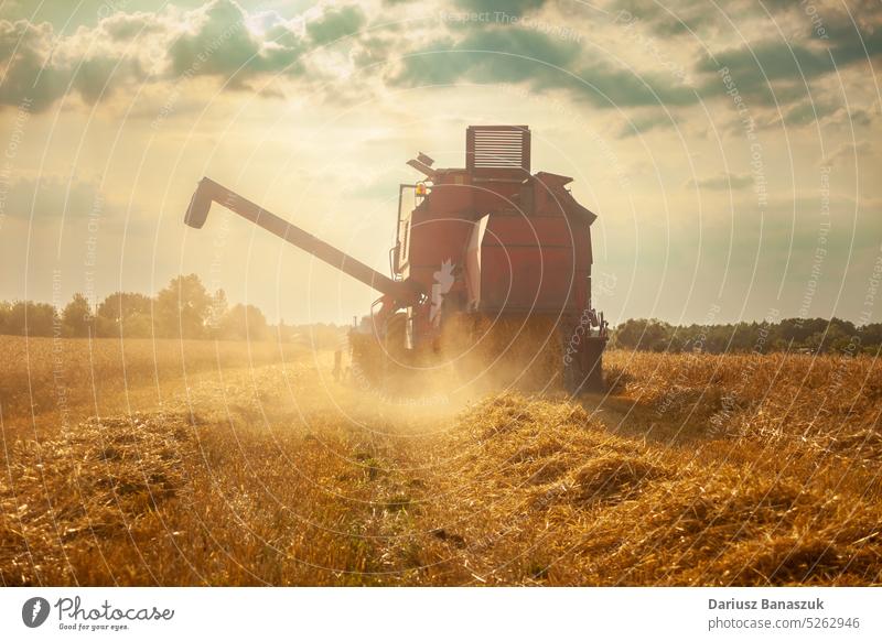
[[473,378],[504,371],[515,384],[557,378],[571,392],[602,390],[596,216],[567,189],[572,178],[530,173],[528,127],[470,127],[465,146],[465,167],[434,167],[422,153],[408,161],[423,180],[399,185],[390,276],[209,178],[185,222],[201,228],[218,203],[380,292],[369,322],[349,334],[353,366],[372,381],[452,362]]

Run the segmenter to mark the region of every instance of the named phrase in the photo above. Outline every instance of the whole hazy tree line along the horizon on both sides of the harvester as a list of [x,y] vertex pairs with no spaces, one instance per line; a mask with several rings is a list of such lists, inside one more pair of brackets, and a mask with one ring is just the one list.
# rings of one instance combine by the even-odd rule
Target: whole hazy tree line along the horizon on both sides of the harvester
[[[340,345],[334,324],[271,326],[255,305],[229,305],[224,290],[208,292],[196,274],[171,280],[155,296],[115,292],[97,305],[83,294],[58,309],[49,303],[0,302],[0,334],[72,338],[214,338]],[[882,346],[882,323],[856,327],[840,318],[785,318],[776,323],[671,325],[632,318],[616,326],[610,346],[646,351],[869,352]]]

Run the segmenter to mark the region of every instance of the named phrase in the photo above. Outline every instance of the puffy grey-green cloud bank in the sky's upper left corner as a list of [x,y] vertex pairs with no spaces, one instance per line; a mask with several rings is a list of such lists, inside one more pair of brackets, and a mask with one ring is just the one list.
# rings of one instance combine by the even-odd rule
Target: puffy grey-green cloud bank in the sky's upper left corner
[[309,51],[364,23],[356,6],[320,6],[293,20],[275,11],[249,13],[234,0],[192,10],[116,12],[71,35],[50,23],[0,20],[0,105],[24,98],[34,111],[78,95],[93,105],[121,86],[216,76],[228,88],[261,74],[305,74]]

